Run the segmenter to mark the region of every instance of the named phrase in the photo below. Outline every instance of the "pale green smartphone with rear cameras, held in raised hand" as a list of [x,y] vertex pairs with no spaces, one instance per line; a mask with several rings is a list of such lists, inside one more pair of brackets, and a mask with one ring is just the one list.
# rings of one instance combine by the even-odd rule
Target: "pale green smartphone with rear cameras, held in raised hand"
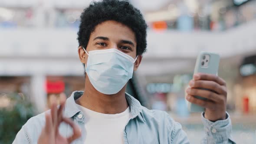
[[[197,62],[194,69],[194,74],[200,72],[200,73],[208,73],[217,75],[218,69],[219,69],[219,63],[220,63],[220,56],[216,53],[210,53],[210,52],[200,52],[200,54],[197,56]],[[204,99],[199,96],[195,96],[196,98]],[[191,102],[188,102],[188,109],[190,112],[200,112],[204,111],[205,108],[193,104]]]

